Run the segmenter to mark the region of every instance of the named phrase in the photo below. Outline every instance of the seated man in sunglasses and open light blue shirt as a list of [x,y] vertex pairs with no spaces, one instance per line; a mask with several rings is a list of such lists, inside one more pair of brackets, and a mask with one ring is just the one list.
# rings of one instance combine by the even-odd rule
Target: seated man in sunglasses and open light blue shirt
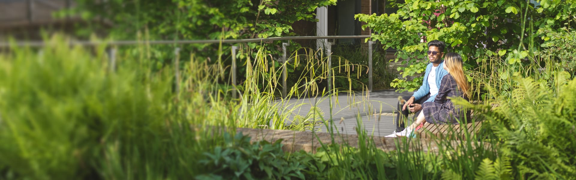
[[[442,62],[444,61],[442,57],[444,57],[445,47],[444,42],[439,40],[428,42],[427,54],[430,63],[426,66],[422,86],[420,86],[418,91],[414,92],[414,95],[404,96],[403,100],[398,102],[397,109],[399,113],[396,115],[396,130],[385,137],[396,137],[396,133],[401,132],[406,127],[406,121],[410,112],[415,113],[414,117],[418,117],[420,111],[422,111],[422,104],[424,102],[434,102],[442,77],[448,74],[448,72],[442,68]],[[406,103],[403,103],[403,101]]]

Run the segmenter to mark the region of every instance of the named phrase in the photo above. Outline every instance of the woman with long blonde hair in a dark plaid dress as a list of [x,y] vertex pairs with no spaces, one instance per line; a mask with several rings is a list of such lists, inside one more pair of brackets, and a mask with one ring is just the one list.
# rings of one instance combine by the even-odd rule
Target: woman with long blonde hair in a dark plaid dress
[[452,98],[464,98],[468,100],[469,85],[462,69],[462,57],[454,52],[448,52],[444,58],[444,67],[448,74],[442,77],[442,83],[438,88],[438,95],[434,102],[422,104],[422,113],[416,117],[416,121],[396,136],[410,136],[412,131],[423,122],[435,124],[457,124],[463,118],[470,119],[470,112],[462,106],[452,103]]

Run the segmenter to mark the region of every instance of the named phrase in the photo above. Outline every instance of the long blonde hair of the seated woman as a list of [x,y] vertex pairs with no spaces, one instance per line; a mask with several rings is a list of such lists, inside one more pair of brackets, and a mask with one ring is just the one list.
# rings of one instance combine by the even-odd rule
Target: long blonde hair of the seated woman
[[448,73],[452,75],[456,84],[458,84],[458,89],[464,92],[464,94],[469,98],[470,87],[468,81],[466,81],[466,76],[464,76],[464,70],[462,69],[462,57],[458,53],[448,52],[444,58],[444,66],[448,69]]

